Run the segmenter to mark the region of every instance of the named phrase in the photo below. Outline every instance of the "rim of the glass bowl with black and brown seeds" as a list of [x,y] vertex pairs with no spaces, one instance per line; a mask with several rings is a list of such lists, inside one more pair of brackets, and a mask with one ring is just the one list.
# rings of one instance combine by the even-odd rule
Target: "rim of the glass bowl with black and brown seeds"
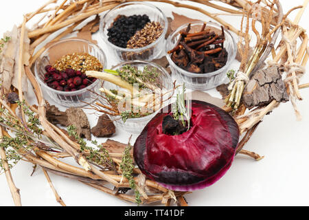
[[[164,20],[164,29],[163,29],[163,32],[161,34],[161,36],[159,36],[159,38],[150,43],[150,45],[146,45],[145,47],[139,47],[139,48],[135,48],[135,49],[130,49],[130,48],[123,48],[123,47],[118,47],[117,45],[114,45],[113,43],[109,42],[107,37],[105,36],[104,34],[104,30],[103,30],[103,23],[105,21],[105,19],[108,17],[108,14],[110,12],[113,12],[114,10],[116,10],[117,8],[120,8],[122,6],[126,6],[126,5],[144,5],[144,6],[148,6],[150,8],[153,8],[155,10],[157,10],[159,12],[159,14],[161,14],[161,16],[163,17],[163,20]],[[130,1],[130,2],[126,2],[126,3],[122,3],[122,4],[119,4],[117,5],[115,8],[112,8],[111,10],[109,10],[106,14],[104,14],[103,17],[101,17],[100,19],[100,36],[101,36],[101,39],[103,39],[103,41],[113,47],[113,49],[117,49],[117,50],[121,50],[122,52],[142,52],[144,50],[148,50],[149,48],[153,47],[154,45],[156,45],[159,41],[161,41],[161,39],[163,39],[163,41],[165,40],[165,35],[166,33],[168,32],[168,18],[165,16],[165,14],[162,12],[161,9],[159,9],[157,6],[155,5],[152,5],[150,3],[144,3],[144,2],[140,2],[140,1]]]

